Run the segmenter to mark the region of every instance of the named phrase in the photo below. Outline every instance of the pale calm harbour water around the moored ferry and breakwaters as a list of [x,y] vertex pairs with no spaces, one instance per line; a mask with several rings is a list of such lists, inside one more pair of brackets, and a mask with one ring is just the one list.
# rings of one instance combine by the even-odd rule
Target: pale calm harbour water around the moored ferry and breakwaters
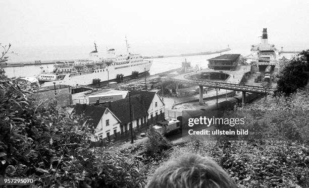
[[[223,47],[223,46],[222,46]],[[219,50],[215,49],[215,50]],[[214,51],[214,49],[196,49],[197,51],[195,52],[203,52],[203,51]],[[146,53],[145,53],[146,52]],[[186,50],[178,50],[178,51],[171,51],[170,54],[181,54],[186,52]],[[187,52],[194,52],[194,51],[187,51]],[[208,60],[210,58],[219,56],[220,54],[226,54],[226,53],[239,53],[241,55],[248,55],[250,54],[250,46],[243,46],[243,47],[237,47],[237,48],[233,48],[231,47],[230,51],[225,51],[222,53],[214,53],[214,54],[208,54],[208,55],[192,55],[192,56],[176,56],[176,57],[162,57],[162,58],[150,58],[147,60],[152,60],[153,64],[152,67],[149,71],[150,75],[155,75],[158,73],[162,73],[165,71],[169,71],[172,69],[176,69],[176,68],[181,68],[181,62],[184,61],[185,59],[189,62],[191,62],[191,67],[195,67],[196,65],[200,68],[200,67],[204,67],[207,68],[208,65]],[[144,53],[141,52],[142,55],[146,54],[149,55],[151,54],[151,51],[144,51]],[[152,55],[160,55],[163,54],[162,51],[157,51],[157,52],[152,52]],[[164,55],[168,55],[169,52],[165,52]],[[65,54],[65,52],[63,52],[62,54],[59,55],[59,57],[57,58],[55,55],[50,55],[50,54],[42,54],[42,55],[46,55],[45,57],[35,57],[36,59],[77,59],[77,58],[87,58],[87,53],[83,53],[83,54],[77,54],[77,53],[68,53]],[[75,56],[76,55],[76,56]],[[145,56],[146,56],[145,55]],[[281,57],[285,55],[286,57],[290,57],[291,55],[287,55],[287,54],[281,54]],[[102,53],[102,56],[104,56],[104,53]],[[280,58],[281,58],[280,57]],[[19,58],[15,58],[15,59],[19,59]],[[33,57],[27,57],[25,56],[25,58],[23,58],[24,61],[27,60],[33,60]],[[4,70],[6,71],[6,75],[9,78],[12,77],[37,77],[40,73],[41,70],[45,70],[48,72],[52,72],[54,70],[54,65],[53,64],[44,64],[44,65],[29,65],[29,66],[24,66],[24,67],[5,67]]]

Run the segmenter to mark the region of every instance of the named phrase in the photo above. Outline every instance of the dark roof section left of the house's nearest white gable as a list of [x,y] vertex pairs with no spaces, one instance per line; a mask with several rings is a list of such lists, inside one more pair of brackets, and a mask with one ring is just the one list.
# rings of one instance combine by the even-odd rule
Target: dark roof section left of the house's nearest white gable
[[93,106],[87,104],[76,104],[72,113],[78,115],[84,115],[89,119],[87,122],[92,123],[93,126],[97,126],[100,122],[101,117],[103,116],[104,112],[106,111],[106,107],[104,106]]

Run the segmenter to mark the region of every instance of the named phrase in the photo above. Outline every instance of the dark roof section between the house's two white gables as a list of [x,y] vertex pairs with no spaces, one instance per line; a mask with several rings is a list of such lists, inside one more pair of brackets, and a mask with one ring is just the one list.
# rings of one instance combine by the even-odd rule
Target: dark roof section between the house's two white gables
[[[108,107],[121,121],[122,124],[130,122],[130,106],[129,97],[116,100],[110,103],[105,103],[100,106]],[[136,97],[131,96],[131,112],[132,121],[134,119],[144,117],[147,115],[147,111],[142,105],[141,101]]]

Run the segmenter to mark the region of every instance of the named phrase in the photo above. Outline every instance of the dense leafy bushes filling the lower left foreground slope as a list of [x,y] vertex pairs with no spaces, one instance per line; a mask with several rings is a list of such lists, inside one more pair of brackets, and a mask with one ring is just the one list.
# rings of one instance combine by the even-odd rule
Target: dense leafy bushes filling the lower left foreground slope
[[54,104],[37,104],[19,80],[0,83],[0,176],[39,187],[142,187],[134,156],[87,144],[89,127]]

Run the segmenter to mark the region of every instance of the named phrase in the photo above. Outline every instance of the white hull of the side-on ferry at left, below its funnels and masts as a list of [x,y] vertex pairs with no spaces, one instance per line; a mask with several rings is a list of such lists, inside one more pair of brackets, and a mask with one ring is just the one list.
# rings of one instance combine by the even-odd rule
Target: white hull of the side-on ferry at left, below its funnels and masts
[[115,81],[117,75],[122,74],[124,78],[129,78],[133,75],[133,72],[138,72],[138,75],[149,72],[152,65],[152,61],[144,60],[140,64],[128,63],[121,65],[111,65],[104,69],[97,69],[88,72],[72,73],[66,74],[62,80],[44,80],[41,87],[56,85],[91,85],[93,84],[93,79],[99,79],[100,82]]

